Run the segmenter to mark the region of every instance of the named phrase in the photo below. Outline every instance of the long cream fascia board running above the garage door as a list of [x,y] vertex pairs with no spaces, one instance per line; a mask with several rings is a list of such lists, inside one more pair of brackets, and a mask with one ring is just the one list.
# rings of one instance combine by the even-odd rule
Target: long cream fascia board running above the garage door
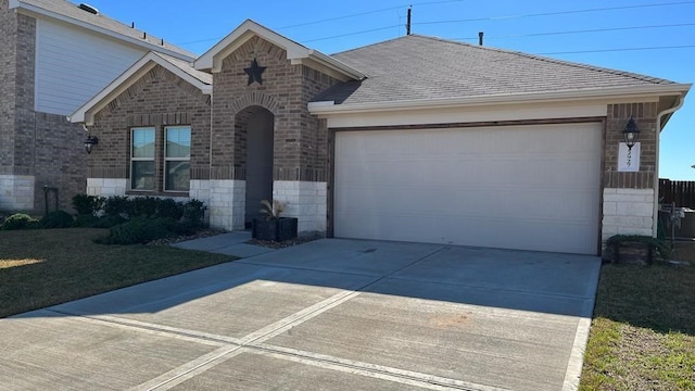
[[523,102],[582,101],[595,99],[650,98],[660,96],[684,96],[692,85],[672,84],[636,87],[594,88],[557,92],[503,93],[453,99],[422,99],[412,101],[388,101],[358,104],[334,104],[334,102],[309,102],[308,111],[315,115],[388,112],[408,109],[443,109],[451,106],[476,106],[490,104],[515,104]]

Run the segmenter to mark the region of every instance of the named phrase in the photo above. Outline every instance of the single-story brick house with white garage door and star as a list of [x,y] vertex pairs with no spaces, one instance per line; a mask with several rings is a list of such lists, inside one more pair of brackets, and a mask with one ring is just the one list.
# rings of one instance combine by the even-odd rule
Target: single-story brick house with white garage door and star
[[656,232],[658,135],[690,87],[424,36],[329,56],[247,21],[72,118],[100,139],[90,194],[195,198],[215,227],[274,198],[301,232],[597,254]]

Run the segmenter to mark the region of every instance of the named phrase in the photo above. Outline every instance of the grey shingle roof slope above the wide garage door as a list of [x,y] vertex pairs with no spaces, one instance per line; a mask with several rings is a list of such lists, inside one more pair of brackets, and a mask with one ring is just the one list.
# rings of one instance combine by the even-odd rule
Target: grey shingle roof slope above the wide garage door
[[314,101],[359,104],[673,84],[532,54],[410,35],[332,55],[367,78]]

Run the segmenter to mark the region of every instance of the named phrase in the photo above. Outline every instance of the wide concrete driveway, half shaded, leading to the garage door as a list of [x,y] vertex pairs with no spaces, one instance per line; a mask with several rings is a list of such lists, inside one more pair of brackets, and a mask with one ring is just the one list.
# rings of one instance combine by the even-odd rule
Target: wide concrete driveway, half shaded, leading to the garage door
[[324,239],[0,320],[0,389],[572,390],[601,260]]

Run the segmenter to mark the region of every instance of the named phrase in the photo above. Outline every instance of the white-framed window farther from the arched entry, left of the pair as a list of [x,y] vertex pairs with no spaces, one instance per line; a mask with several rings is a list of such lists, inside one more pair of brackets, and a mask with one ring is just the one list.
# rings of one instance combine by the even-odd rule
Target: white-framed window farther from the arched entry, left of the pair
[[130,140],[130,189],[153,191],[155,130],[153,127],[134,128]]

